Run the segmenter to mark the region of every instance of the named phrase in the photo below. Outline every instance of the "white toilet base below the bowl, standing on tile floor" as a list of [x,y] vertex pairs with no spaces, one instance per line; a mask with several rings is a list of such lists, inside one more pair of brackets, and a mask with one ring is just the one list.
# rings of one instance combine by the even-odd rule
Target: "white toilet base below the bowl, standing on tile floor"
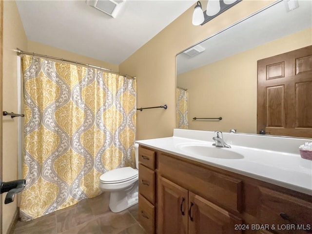
[[138,182],[124,191],[113,191],[110,195],[109,208],[118,213],[138,203]]

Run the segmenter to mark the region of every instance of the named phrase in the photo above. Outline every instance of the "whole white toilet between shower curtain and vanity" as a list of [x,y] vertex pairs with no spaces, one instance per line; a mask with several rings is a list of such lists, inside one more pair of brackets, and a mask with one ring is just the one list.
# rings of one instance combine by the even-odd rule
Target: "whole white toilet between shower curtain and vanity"
[[109,208],[121,212],[138,202],[138,144],[136,149],[136,168],[123,167],[104,173],[99,178],[99,188],[111,192]]

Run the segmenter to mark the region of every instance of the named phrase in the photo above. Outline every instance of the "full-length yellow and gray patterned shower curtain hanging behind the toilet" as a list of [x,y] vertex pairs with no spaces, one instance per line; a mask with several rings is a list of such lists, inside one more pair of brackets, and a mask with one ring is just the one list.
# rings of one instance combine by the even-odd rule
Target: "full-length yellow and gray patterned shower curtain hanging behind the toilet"
[[97,196],[101,174],[135,166],[137,84],[30,56],[22,70],[26,221]]

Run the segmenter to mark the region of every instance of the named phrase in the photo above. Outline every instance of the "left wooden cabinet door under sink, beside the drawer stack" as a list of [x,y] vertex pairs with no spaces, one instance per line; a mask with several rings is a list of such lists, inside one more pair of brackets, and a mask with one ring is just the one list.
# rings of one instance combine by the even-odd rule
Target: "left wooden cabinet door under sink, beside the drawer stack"
[[158,177],[158,230],[159,234],[187,234],[188,191]]

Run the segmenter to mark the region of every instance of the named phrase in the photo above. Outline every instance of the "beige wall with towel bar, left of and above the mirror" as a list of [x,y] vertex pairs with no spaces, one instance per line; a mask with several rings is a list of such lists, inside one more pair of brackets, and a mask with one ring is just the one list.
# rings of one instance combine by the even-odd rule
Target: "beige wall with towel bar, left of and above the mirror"
[[[137,139],[173,134],[176,126],[176,54],[272,2],[242,1],[203,26],[192,25],[192,6],[120,64],[121,73],[137,77],[138,107],[168,105],[167,110],[137,112]],[[205,8],[207,3],[202,3]]]

